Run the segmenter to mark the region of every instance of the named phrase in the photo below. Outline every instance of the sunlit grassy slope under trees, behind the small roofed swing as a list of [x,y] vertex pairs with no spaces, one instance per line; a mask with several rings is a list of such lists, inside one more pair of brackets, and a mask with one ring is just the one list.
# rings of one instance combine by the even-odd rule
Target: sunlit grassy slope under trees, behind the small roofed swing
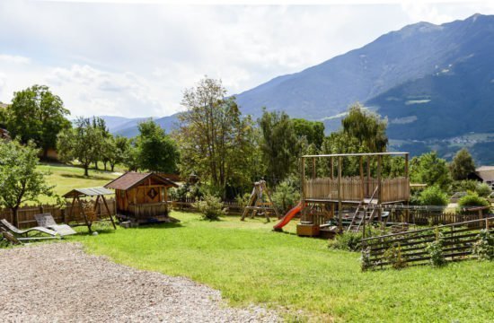
[[[61,163],[42,162],[38,166],[38,169],[49,171],[50,174],[46,177],[47,183],[55,186],[53,190],[59,196],[66,194],[66,192],[73,188],[103,186],[111,179],[116,179],[119,176],[118,173],[111,171],[89,170],[89,177],[85,177],[83,168]],[[41,196],[40,202],[50,204],[55,203],[56,199],[54,197]]]

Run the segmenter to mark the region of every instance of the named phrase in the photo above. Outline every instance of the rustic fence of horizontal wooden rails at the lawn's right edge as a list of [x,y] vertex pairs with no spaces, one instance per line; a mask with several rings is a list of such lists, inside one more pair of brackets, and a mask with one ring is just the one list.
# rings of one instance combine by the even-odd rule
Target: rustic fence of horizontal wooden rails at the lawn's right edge
[[[474,225],[472,225],[474,224]],[[407,266],[426,265],[430,261],[428,243],[441,240],[445,261],[472,258],[473,244],[481,229],[494,233],[494,216],[463,223],[405,231],[362,240],[362,257],[370,269],[384,269],[397,261]]]

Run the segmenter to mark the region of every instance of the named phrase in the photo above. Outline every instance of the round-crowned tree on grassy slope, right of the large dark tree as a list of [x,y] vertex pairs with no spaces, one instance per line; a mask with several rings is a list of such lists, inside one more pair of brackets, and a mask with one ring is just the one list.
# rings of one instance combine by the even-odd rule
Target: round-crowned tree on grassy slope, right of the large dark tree
[[58,134],[57,149],[62,161],[77,160],[84,167],[84,176],[89,176],[89,165],[100,158],[102,142],[101,129],[93,127],[89,118],[78,118],[75,128]]

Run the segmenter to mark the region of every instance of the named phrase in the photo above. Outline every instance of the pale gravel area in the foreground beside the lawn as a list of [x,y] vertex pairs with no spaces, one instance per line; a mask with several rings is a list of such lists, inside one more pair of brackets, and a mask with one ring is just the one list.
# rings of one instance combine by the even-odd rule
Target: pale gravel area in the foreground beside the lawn
[[75,243],[0,249],[2,322],[276,322],[271,311],[225,306],[183,277],[117,265]]

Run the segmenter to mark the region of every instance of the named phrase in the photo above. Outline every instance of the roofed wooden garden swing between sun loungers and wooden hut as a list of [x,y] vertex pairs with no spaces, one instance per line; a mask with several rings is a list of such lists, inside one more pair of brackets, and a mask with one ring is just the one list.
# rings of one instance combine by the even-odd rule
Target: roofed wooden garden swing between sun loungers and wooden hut
[[[113,194],[113,191],[107,188],[75,188],[67,192],[64,197],[72,198],[72,207],[70,208],[70,214],[68,214],[68,218],[72,222],[71,226],[85,225],[89,232],[92,232],[93,223],[108,221],[113,226],[113,229],[117,229],[105,198],[105,195],[110,194]],[[84,200],[83,198],[87,196],[96,196],[96,200]],[[100,199],[105,206],[108,219],[103,218],[101,214],[96,212]],[[75,207],[75,205],[78,207]]]

